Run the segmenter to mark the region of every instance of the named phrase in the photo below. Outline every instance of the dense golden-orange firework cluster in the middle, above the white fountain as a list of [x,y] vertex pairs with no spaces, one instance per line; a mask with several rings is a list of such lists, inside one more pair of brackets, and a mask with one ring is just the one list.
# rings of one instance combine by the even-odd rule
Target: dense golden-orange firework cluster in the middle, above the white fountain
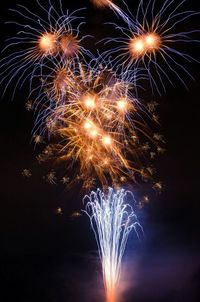
[[134,173],[148,178],[138,146],[138,134],[148,136],[148,130],[130,83],[108,70],[79,68],[71,88],[47,116],[48,131],[58,141],[51,145],[51,155],[70,167],[79,162],[84,184],[95,178],[103,186],[118,185]]

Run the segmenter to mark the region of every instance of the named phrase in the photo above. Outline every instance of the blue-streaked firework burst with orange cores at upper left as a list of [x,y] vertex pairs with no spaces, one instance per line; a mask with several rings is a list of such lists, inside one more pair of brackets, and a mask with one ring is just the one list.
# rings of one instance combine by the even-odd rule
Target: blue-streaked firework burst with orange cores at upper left
[[[15,37],[7,39],[7,45],[3,49],[5,56],[1,59],[0,76],[4,91],[14,82],[15,89],[22,87],[26,80],[30,82],[30,90],[34,78],[44,75],[44,66],[47,62],[59,57],[62,60],[79,60],[80,57],[90,56],[91,53],[83,47],[86,36],[80,37],[80,27],[84,24],[83,17],[64,12],[60,3],[59,9],[49,1],[49,8],[42,6],[37,1],[41,14],[31,12],[23,5],[18,9],[11,9],[20,21],[6,22],[18,28]],[[23,17],[23,21],[21,21]]]

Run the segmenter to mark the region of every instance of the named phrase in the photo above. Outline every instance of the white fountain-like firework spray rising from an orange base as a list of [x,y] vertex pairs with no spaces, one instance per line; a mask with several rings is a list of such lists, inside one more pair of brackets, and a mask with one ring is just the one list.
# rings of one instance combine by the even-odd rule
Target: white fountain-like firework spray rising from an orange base
[[106,194],[100,189],[91,192],[83,201],[99,249],[107,302],[116,302],[121,262],[129,234],[132,229],[137,236],[142,231],[133,209],[135,199],[129,191],[109,188]]

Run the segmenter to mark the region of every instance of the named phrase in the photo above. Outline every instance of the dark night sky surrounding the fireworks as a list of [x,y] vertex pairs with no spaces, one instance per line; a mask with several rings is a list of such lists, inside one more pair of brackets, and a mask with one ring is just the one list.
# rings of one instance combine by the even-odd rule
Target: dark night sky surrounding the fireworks
[[[160,1],[160,0],[159,0]],[[28,1],[29,2],[29,1]],[[75,9],[88,1],[64,1]],[[134,1],[129,1],[132,7]],[[199,9],[197,1],[188,7]],[[3,24],[10,20],[8,8],[27,1],[7,0],[0,4],[1,45],[12,33]],[[82,4],[83,3],[83,4]],[[37,7],[34,1],[29,6]],[[106,36],[99,24],[112,13],[90,7],[86,30]],[[190,24],[191,25],[191,24]],[[199,28],[198,18],[192,26]],[[186,29],[187,30],[187,29]],[[191,50],[198,58],[199,48]],[[161,132],[167,152],[157,162],[165,184],[161,195],[139,211],[145,238],[131,236],[124,258],[122,302],[200,301],[200,203],[199,203],[199,66],[191,64],[196,81],[188,80],[186,91],[175,80],[159,98]],[[43,179],[30,142],[33,117],[24,108],[27,88],[9,93],[0,103],[0,275],[3,302],[100,302],[103,301],[101,269],[96,244],[87,217],[72,219],[82,207],[82,193],[66,192]],[[34,173],[23,178],[24,168]],[[136,198],[139,198],[136,193]],[[63,208],[63,215],[56,208]]]

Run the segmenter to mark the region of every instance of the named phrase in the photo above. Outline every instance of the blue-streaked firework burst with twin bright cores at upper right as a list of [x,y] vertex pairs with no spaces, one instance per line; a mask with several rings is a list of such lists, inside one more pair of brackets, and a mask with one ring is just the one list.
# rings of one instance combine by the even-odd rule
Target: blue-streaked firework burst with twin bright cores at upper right
[[[143,66],[152,91],[160,94],[161,89],[165,91],[166,81],[173,85],[171,74],[187,88],[185,77],[193,77],[185,65],[198,62],[187,53],[187,45],[199,43],[194,38],[199,30],[189,30],[188,20],[199,13],[184,10],[184,3],[167,0],[160,4],[155,0],[141,0],[136,16],[126,26],[114,24],[120,37],[105,40],[106,45],[112,43],[114,47],[106,50],[104,57],[112,57],[113,66],[122,73]],[[180,31],[180,25],[185,25],[187,31]]]

